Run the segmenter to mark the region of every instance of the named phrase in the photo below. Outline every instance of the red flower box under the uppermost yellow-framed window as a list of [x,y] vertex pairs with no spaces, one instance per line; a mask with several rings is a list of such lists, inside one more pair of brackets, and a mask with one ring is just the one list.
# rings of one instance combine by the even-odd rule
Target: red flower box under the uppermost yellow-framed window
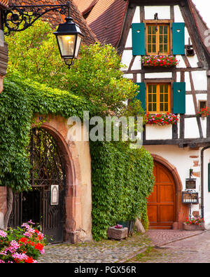
[[146,55],[141,58],[143,67],[176,67],[179,60],[173,55]]

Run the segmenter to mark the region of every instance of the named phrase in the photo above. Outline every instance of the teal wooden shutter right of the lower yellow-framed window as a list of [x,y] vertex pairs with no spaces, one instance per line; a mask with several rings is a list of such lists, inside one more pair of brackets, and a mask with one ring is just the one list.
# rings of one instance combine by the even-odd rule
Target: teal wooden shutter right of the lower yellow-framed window
[[174,114],[186,113],[186,83],[174,83],[173,112]]

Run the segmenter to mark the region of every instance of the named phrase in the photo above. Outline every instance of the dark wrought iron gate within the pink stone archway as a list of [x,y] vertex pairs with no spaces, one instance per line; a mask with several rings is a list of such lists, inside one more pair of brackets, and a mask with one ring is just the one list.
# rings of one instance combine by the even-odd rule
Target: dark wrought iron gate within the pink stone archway
[[[10,227],[30,219],[52,242],[62,242],[64,232],[65,173],[55,139],[42,128],[31,130],[29,144],[31,190],[15,194]],[[51,186],[57,187],[57,205],[51,205]]]

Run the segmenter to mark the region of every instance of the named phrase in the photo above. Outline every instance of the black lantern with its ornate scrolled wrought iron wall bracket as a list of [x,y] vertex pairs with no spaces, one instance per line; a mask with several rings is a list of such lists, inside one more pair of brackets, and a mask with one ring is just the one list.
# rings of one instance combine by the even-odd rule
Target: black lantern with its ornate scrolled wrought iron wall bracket
[[3,11],[3,22],[8,29],[5,34],[8,35],[10,32],[20,32],[27,29],[49,11],[56,11],[62,15],[68,11],[66,22],[59,24],[57,31],[53,34],[57,38],[60,55],[70,68],[74,59],[78,58],[80,43],[83,38],[80,28],[70,17],[70,1],[63,5],[10,6]]

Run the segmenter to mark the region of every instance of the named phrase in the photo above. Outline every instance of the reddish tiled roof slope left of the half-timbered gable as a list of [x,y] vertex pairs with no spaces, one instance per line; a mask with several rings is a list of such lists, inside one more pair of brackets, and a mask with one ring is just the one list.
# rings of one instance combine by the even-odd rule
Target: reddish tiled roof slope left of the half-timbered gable
[[128,1],[123,0],[75,0],[80,11],[85,15],[87,25],[96,34],[101,43],[118,45],[123,29]]

